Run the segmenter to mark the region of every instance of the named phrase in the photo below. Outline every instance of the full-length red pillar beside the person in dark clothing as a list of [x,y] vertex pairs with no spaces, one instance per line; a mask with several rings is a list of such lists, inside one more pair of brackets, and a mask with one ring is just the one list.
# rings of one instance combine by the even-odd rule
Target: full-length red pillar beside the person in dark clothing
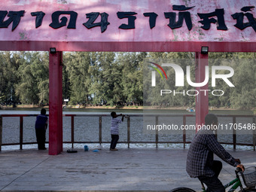
[[62,152],[62,52],[49,53],[49,154]]

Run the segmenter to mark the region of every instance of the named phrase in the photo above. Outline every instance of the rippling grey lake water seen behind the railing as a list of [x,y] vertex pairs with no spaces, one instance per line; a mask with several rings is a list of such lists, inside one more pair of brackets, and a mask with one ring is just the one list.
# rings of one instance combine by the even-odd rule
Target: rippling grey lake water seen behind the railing
[[[139,109],[63,109],[63,114],[107,114],[107,117],[102,117],[102,142],[110,142],[110,126],[111,117],[109,114],[111,111],[116,111],[117,114],[128,114],[130,115],[130,141],[132,142],[154,142],[155,135],[145,133],[143,130],[143,110]],[[154,111],[156,112],[156,111]],[[214,114],[252,114],[252,111],[211,111]],[[160,110],[157,114],[193,114],[185,110]],[[17,108],[14,110],[0,110],[0,114],[40,114],[40,108]],[[48,112],[47,112],[48,114]],[[133,117],[134,114],[139,114],[140,116]],[[182,125],[182,117],[160,117],[162,122],[172,122],[177,125]],[[154,117],[152,119],[154,121]],[[232,117],[219,117],[219,123],[232,123]],[[120,142],[126,142],[127,140],[127,123],[126,119],[120,124]],[[237,117],[236,123],[252,123],[252,118]],[[195,124],[195,117],[187,117],[187,124]],[[23,142],[36,142],[35,139],[35,117],[24,117],[23,119]],[[17,143],[19,142],[20,134],[20,117],[3,117],[3,133],[2,142],[3,143]],[[218,140],[220,142],[233,142],[233,132],[232,130],[218,131],[220,134]],[[194,137],[194,131],[187,131],[186,139],[190,141]],[[172,133],[159,133],[159,142],[182,142],[183,135],[172,134]],[[242,132],[237,130],[236,140],[239,143],[252,144],[253,137],[252,131]],[[47,130],[47,141],[48,141],[48,130]],[[75,117],[75,142],[98,142],[99,141],[99,117]],[[63,117],[63,142],[71,142],[71,117]],[[137,145],[145,146],[145,145]],[[151,145],[147,145],[151,146]],[[171,145],[167,145],[171,146]],[[9,146],[8,149],[10,149]],[[5,146],[2,146],[5,148]],[[12,147],[11,147],[12,148]]]

